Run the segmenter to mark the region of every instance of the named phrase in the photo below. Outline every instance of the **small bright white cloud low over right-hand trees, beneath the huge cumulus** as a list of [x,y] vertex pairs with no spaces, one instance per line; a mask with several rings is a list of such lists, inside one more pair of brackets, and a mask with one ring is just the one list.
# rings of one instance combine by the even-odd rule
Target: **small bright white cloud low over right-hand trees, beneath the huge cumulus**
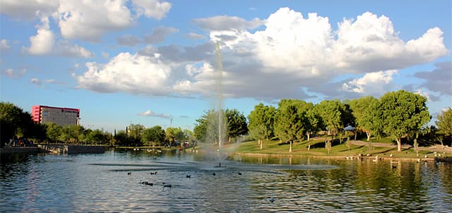
[[349,92],[357,92],[363,96],[383,95],[387,90],[387,86],[391,84],[393,75],[398,71],[379,71],[375,73],[366,73],[362,78],[352,80],[343,84],[343,90]]

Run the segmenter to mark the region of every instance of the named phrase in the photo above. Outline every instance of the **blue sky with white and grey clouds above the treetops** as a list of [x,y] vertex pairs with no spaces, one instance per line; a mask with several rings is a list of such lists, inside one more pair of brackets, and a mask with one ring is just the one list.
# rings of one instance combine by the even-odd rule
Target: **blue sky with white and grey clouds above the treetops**
[[1,0],[0,100],[109,132],[192,129],[218,88],[245,116],[407,90],[435,118],[452,107],[451,2]]

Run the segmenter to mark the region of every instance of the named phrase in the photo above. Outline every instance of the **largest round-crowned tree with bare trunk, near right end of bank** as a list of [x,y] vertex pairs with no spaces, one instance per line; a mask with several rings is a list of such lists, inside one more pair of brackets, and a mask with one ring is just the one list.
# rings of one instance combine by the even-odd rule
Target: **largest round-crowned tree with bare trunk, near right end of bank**
[[430,121],[431,116],[425,104],[427,98],[398,90],[387,92],[380,102],[383,132],[396,140],[397,150],[401,152],[403,136],[410,131],[418,132]]

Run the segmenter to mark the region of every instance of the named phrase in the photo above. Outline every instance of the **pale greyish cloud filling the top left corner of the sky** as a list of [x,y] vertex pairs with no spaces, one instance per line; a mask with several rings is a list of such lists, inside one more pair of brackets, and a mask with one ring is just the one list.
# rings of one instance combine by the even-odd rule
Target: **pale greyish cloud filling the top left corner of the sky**
[[0,13],[13,18],[32,20],[49,16],[58,6],[58,0],[1,0]]

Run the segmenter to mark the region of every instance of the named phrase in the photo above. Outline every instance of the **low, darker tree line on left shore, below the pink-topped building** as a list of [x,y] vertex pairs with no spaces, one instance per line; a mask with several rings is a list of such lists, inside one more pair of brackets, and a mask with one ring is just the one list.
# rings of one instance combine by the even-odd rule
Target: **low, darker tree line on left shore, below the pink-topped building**
[[0,142],[1,147],[10,140],[26,138],[34,142],[97,144],[111,146],[179,145],[177,142],[193,142],[193,133],[181,128],[161,126],[145,128],[141,124],[131,124],[126,130],[107,133],[100,129],[85,128],[80,125],[59,126],[56,123],[35,123],[28,111],[23,111],[9,102],[0,102]]

